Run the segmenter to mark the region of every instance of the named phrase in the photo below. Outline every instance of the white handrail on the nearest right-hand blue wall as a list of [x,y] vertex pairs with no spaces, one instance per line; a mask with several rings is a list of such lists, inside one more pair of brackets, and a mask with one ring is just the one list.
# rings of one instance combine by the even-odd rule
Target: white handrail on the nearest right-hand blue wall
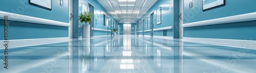
[[242,22],[242,21],[251,21],[251,20],[256,20],[256,12],[185,23],[182,25],[182,27],[187,28],[187,27],[207,26],[207,25],[218,25],[222,23]]

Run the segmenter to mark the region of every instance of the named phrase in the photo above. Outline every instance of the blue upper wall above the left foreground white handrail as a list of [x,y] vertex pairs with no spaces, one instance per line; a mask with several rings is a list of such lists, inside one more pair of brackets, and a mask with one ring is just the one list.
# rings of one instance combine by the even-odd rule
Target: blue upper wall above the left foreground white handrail
[[52,10],[41,8],[29,4],[28,0],[9,0],[0,3],[0,11],[33,16],[38,18],[56,20],[61,22],[69,22],[69,3],[63,0],[63,7],[59,5],[59,1],[52,1]]

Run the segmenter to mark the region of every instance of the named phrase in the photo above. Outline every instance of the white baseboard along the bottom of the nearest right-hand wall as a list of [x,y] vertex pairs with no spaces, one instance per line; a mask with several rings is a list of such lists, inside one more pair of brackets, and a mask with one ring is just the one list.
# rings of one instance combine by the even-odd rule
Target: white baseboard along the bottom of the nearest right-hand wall
[[214,45],[223,45],[223,46],[231,46],[231,47],[239,47],[239,48],[249,48],[249,49],[253,49],[253,50],[256,49],[256,41],[255,40],[234,40],[234,39],[212,39],[212,38],[184,37],[183,41],[214,44]]

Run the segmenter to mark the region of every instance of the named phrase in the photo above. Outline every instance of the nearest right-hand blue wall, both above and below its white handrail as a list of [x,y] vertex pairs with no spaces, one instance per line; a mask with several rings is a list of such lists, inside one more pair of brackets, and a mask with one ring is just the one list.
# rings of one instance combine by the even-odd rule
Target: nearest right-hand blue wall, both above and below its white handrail
[[[256,1],[226,0],[226,5],[202,11],[202,0],[193,0],[193,8],[188,8],[188,0],[184,1],[184,23],[197,22],[220,17],[256,12]],[[223,23],[210,26],[184,28],[184,37],[256,40],[254,25],[256,21]]]

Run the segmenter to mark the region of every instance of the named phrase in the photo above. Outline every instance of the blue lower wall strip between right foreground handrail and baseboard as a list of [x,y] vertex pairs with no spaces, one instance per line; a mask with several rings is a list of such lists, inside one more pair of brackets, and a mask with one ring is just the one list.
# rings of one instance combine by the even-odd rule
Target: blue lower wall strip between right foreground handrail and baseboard
[[256,21],[184,28],[184,37],[256,40]]

